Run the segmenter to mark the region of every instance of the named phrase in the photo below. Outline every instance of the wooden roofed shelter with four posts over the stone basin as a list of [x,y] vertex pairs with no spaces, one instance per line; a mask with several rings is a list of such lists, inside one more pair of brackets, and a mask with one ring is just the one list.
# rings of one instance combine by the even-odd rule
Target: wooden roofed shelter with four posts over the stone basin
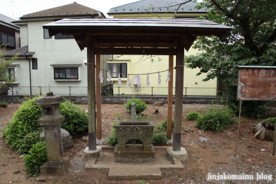
[[[62,19],[43,25],[43,28],[49,30],[50,37],[59,32],[71,34],[81,50],[87,48],[89,150],[96,150],[97,136],[101,139],[101,84],[98,77],[100,55],[168,55],[169,70],[174,68],[173,55],[176,55],[175,127],[172,146],[175,152],[181,150],[184,50],[189,50],[197,36],[215,35],[224,38],[225,33],[231,29],[226,25],[202,19]],[[171,132],[172,76],[171,72],[168,83],[168,136]]]

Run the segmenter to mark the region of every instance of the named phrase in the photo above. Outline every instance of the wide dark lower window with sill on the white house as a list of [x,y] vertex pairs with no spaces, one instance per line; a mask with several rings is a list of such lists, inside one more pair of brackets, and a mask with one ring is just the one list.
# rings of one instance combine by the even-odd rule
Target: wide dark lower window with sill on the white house
[[78,68],[54,68],[54,79],[79,79]]

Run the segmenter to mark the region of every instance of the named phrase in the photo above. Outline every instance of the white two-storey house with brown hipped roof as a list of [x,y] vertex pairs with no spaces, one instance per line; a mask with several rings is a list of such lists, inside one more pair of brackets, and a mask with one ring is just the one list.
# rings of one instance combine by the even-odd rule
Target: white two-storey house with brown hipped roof
[[[25,14],[13,22],[20,26],[23,47],[6,52],[6,57],[19,52],[19,59],[9,67],[17,77],[9,94],[46,94],[50,89],[59,95],[87,95],[86,50],[81,52],[72,35],[49,37],[48,30],[41,26],[60,19],[81,18],[106,17],[99,10],[71,3]],[[101,59],[104,61],[104,57]]]

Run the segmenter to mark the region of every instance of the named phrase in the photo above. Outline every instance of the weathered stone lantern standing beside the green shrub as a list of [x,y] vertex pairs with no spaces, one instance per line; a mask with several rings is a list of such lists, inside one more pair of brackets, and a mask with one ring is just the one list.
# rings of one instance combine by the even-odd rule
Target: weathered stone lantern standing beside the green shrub
[[47,96],[41,96],[34,105],[41,105],[41,119],[37,125],[43,126],[47,150],[48,162],[40,167],[41,174],[63,175],[69,164],[69,159],[63,158],[61,123],[65,120],[59,112],[59,104],[65,101],[62,96],[55,96],[48,92]]

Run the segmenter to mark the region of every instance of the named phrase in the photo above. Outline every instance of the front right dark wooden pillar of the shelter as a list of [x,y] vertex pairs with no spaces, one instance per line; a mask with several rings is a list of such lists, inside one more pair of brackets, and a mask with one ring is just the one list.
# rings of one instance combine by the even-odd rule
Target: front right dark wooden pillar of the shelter
[[175,128],[173,133],[172,150],[181,151],[181,124],[183,108],[184,81],[184,46],[177,46],[177,60],[175,71]]

